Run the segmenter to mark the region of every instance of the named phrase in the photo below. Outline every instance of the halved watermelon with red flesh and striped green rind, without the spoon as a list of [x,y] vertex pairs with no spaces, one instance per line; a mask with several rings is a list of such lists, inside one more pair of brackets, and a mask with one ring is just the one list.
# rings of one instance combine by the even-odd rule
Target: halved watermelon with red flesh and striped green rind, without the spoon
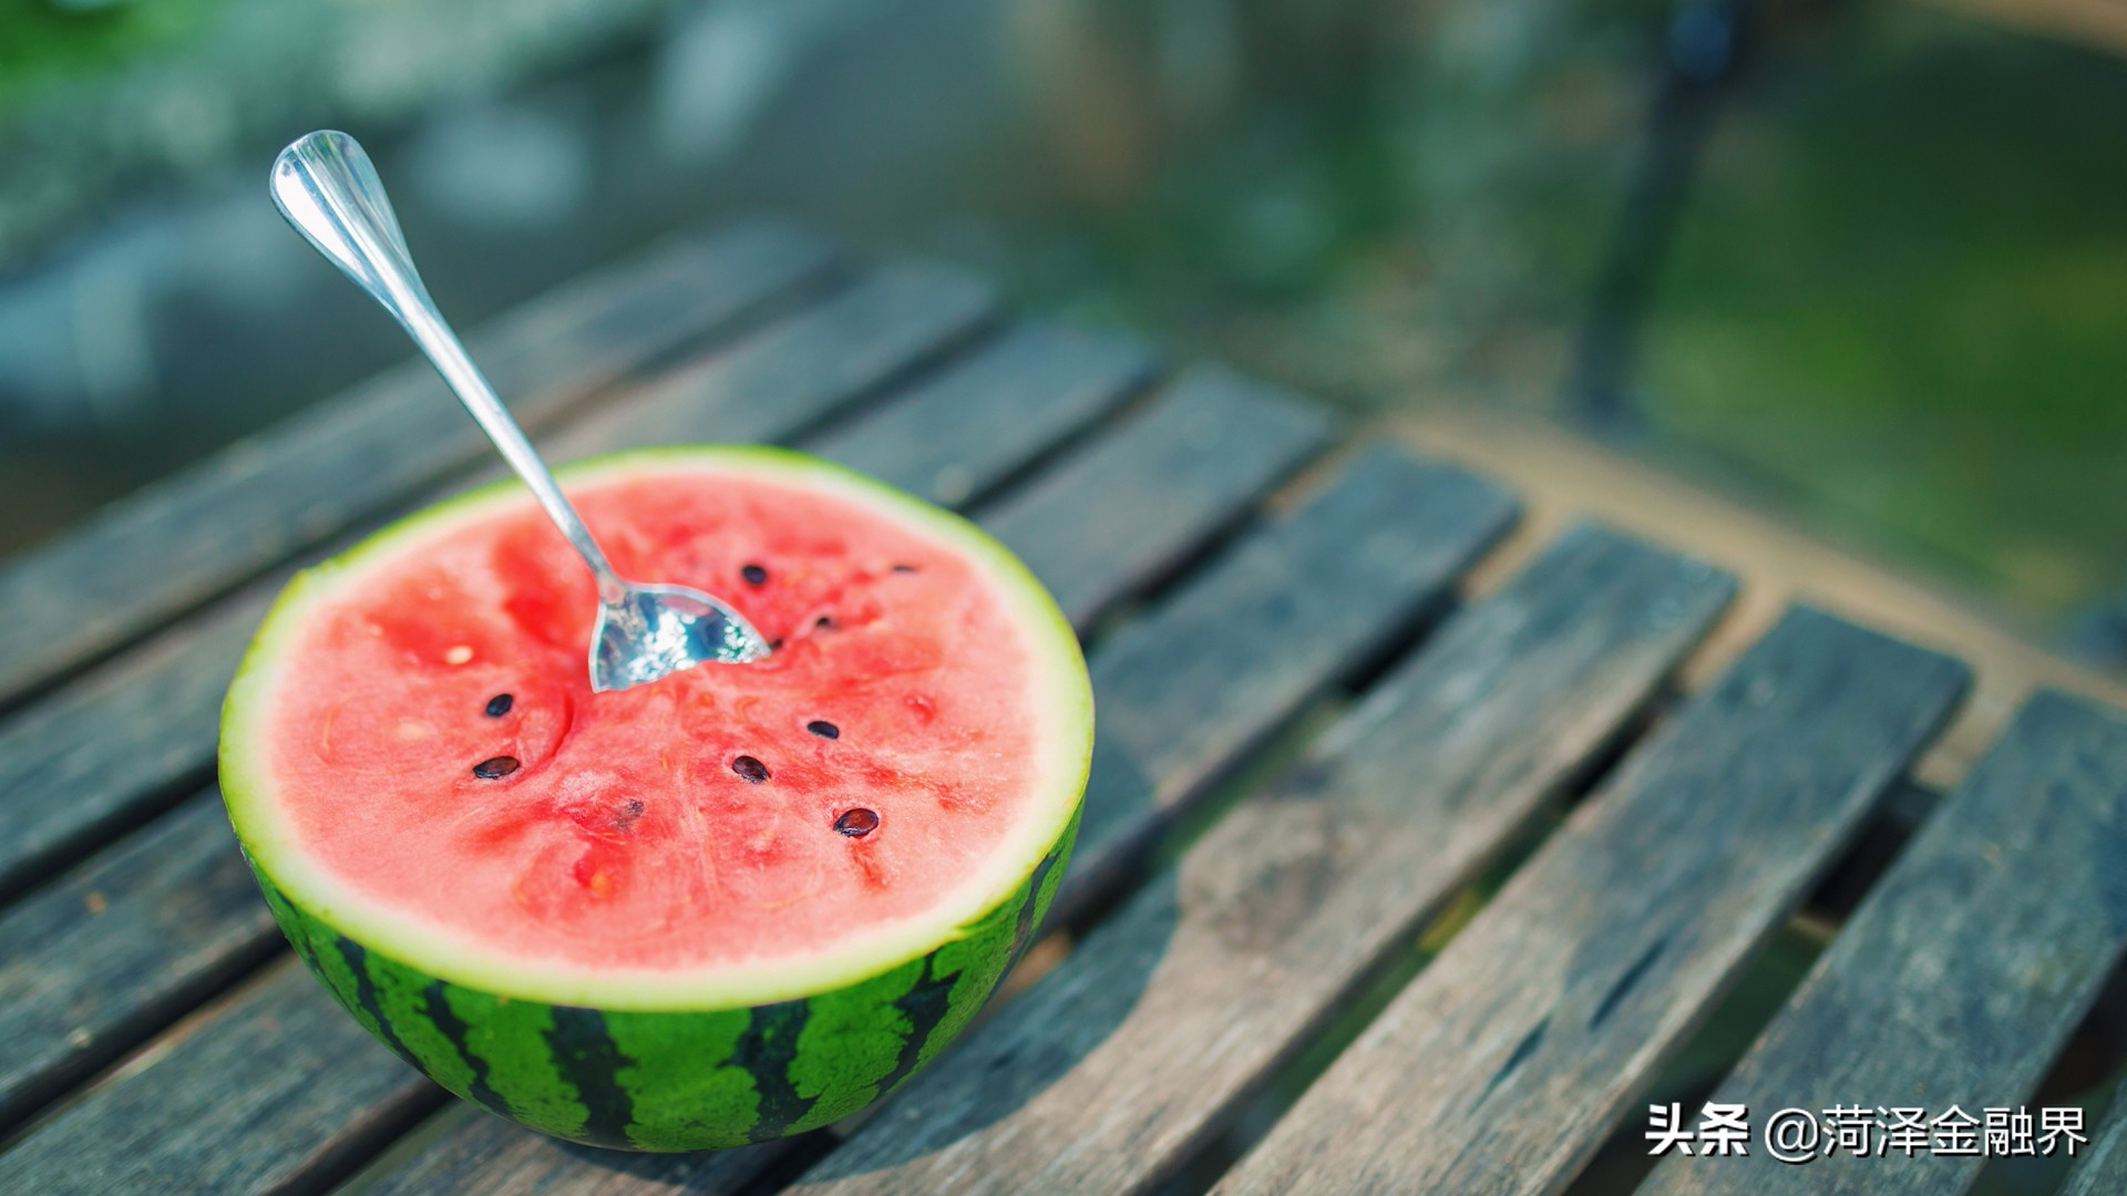
[[387,1047],[525,1126],[730,1147],[923,1066],[1064,873],[1093,738],[1070,624],[972,524],[776,449],[562,472],[625,577],[776,643],[591,694],[596,598],[487,487],[296,577],[221,790],[296,951]]

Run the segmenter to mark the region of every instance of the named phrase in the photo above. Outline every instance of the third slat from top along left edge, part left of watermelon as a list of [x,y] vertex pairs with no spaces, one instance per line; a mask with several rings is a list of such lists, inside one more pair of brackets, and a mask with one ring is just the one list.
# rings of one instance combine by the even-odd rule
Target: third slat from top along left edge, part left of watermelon
[[215,794],[0,917],[0,1134],[281,943]]

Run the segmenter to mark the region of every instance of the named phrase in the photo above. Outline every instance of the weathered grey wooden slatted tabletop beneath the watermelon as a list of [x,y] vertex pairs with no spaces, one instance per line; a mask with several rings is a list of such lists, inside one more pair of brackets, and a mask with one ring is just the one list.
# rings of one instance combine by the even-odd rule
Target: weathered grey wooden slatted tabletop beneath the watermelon
[[[1555,1192],[1640,1136],[1657,1068],[1967,683],[1797,607],[1678,694],[1729,575],[1576,524],[1472,598],[1517,519],[1497,483],[778,223],[540,298],[476,355],[557,458],[795,443],[1025,555],[1100,696],[1049,938],[872,1115],[727,1153],[559,1145],[370,1041],[253,892],[213,747],[289,570],[496,472],[406,364],[0,570],[0,1192]],[[2097,1000],[2127,719],[2040,694],[1912,809],[1716,1100],[2014,1107]],[[2127,1190],[2127,1130],[2089,1132],[2076,1183]],[[1644,1190],[1933,1194],[1978,1164],[1753,1141]]]

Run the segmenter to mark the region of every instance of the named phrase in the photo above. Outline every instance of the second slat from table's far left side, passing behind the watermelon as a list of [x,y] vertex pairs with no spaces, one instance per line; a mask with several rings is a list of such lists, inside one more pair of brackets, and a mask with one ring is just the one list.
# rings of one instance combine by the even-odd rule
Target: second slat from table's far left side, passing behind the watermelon
[[[549,453],[581,455],[657,436],[787,441],[959,343],[991,311],[991,292],[970,275],[923,264],[885,266],[840,296],[625,394],[538,443]],[[1093,362],[1083,366],[1091,370]],[[1051,370],[1049,385],[1072,394],[1072,387],[1098,392],[1110,381],[1078,368]],[[927,415],[883,413],[881,428],[895,430]],[[989,455],[978,443],[966,449],[968,462],[991,472],[1017,460],[1010,451]],[[874,453],[874,460],[891,455]],[[500,466],[479,475],[498,477]],[[340,538],[334,551],[349,543]],[[221,690],[289,572],[274,570],[143,651],[0,724],[0,811],[13,828],[0,836],[0,900],[206,775]],[[115,728],[123,734],[121,753],[111,749]]]

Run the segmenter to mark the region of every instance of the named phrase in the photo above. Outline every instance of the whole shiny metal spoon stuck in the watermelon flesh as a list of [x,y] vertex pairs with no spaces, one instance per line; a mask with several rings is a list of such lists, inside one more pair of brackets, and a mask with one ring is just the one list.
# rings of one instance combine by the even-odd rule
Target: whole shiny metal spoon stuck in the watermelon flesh
[[428,298],[391,200],[355,138],[323,130],[283,149],[272,164],[272,202],[296,232],[398,317],[591,566],[598,579],[591,690],[625,690],[702,662],[744,664],[768,655],[768,641],[725,602],[685,585],[636,585],[613,572],[591,530]]

